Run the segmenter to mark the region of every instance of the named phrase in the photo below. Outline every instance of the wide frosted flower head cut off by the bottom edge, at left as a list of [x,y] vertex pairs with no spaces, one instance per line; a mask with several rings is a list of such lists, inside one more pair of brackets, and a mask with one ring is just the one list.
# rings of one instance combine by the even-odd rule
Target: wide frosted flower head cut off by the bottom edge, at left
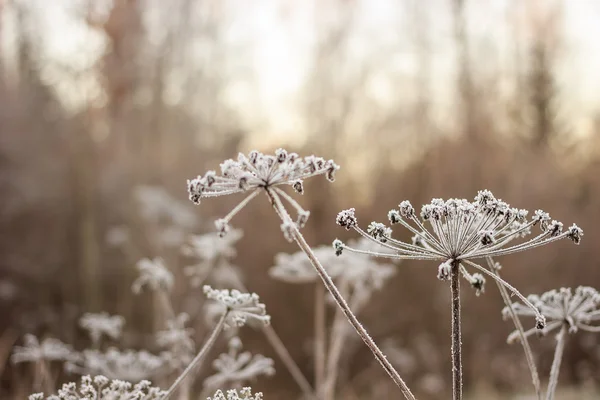
[[[166,392],[151,385],[149,381],[132,385],[117,379],[110,381],[102,375],[93,379],[86,375],[81,378],[79,388],[75,382],[65,383],[58,394],[50,395],[46,400],[160,400]],[[29,400],[43,399],[43,393],[29,396]]]

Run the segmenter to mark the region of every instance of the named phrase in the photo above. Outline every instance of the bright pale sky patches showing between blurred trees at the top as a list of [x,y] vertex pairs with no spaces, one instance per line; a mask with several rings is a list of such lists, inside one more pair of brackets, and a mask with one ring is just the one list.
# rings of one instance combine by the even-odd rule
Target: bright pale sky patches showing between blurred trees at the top
[[[105,50],[105,38],[77,21],[74,15],[83,0],[14,0],[26,2],[40,16],[44,52],[59,60],[48,64],[43,74],[55,83],[65,104],[77,109],[82,96],[101,98],[100,86],[85,71]],[[160,0],[145,0],[161,4]],[[390,101],[412,95],[410,85],[419,72],[418,54],[414,45],[414,16],[416,0],[356,0],[349,51],[344,67],[361,65],[365,60],[382,59],[372,68],[366,86],[368,96],[385,107]],[[525,9],[557,0],[471,0],[467,19],[472,54],[476,57],[473,69],[486,74],[502,74],[512,68],[514,55],[511,35],[514,26],[507,23],[516,13],[518,34],[527,38],[531,23]],[[228,29],[224,41],[228,46],[242,49],[237,63],[250,70],[252,79],[233,77],[227,92],[229,102],[239,108],[247,124],[271,135],[290,135],[301,132],[305,115],[302,111],[302,91],[309,76],[313,49],[319,39],[315,21],[335,21],[339,10],[331,1],[294,0],[223,0]],[[431,85],[433,101],[442,120],[452,115],[454,94],[455,53],[450,0],[429,0],[428,19],[431,40]],[[165,3],[162,3],[164,6]],[[318,4],[318,8],[316,8]],[[572,115],[581,134],[591,126],[600,106],[600,4],[596,0],[562,0],[563,43],[557,64],[557,80],[565,93],[563,111]],[[97,0],[94,5],[102,13],[110,0]],[[151,7],[149,6],[148,9]],[[541,7],[540,15],[543,15]],[[160,36],[160,18],[165,10],[147,16],[155,25],[151,32]],[[10,53],[12,18],[10,8],[4,14],[5,34],[2,46]],[[157,22],[158,21],[158,22]],[[158,29],[156,29],[158,28]],[[57,68],[59,65],[60,68]],[[72,72],[79,72],[77,80]],[[69,77],[65,80],[65,77]],[[185,84],[185,82],[180,82]],[[406,94],[398,87],[408,85]],[[399,97],[400,96],[400,97]]]

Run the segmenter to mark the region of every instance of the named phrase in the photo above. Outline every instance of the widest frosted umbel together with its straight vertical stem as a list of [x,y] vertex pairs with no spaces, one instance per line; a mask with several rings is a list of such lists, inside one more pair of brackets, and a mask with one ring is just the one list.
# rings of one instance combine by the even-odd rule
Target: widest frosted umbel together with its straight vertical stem
[[[361,236],[378,243],[381,252],[364,251],[335,240],[336,254],[344,250],[371,254],[392,259],[439,261],[438,278],[450,281],[452,294],[452,375],[453,398],[462,398],[462,363],[460,331],[460,276],[480,294],[486,277],[495,280],[516,295],[536,317],[536,327],[543,329],[544,316],[514,287],[493,271],[475,263],[475,260],[508,255],[533,249],[554,241],[569,238],[579,244],[583,231],[577,226],[563,230],[561,222],[537,210],[531,220],[528,212],[511,208],[496,199],[488,190],[477,193],[473,202],[466,199],[433,199],[421,208],[420,218],[408,201],[400,203],[397,210],[388,213],[392,225],[402,225],[414,236],[411,243],[392,237],[392,229],[385,224],[372,222],[366,231],[358,226],[355,209],[340,212],[336,222],[346,229],[354,229]],[[525,240],[531,228],[539,225],[541,233]],[[475,269],[471,274],[467,267]]]

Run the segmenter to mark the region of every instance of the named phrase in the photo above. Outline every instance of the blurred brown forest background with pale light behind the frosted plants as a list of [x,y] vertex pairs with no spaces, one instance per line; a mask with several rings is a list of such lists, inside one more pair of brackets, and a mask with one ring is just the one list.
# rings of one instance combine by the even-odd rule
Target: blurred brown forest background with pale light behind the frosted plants
[[[404,199],[486,188],[585,231],[580,247],[498,260],[509,282],[524,294],[599,288],[599,35],[592,0],[0,0],[0,397],[31,391],[27,369],[9,362],[25,333],[78,347],[77,318],[107,311],[140,346],[153,329],[130,291],[142,257],[167,261],[182,307],[202,301],[179,246],[239,199],[192,207],[186,179],[253,148],[341,165],[334,184],[308,182],[300,199],[310,244],[348,238],[341,209],[366,224]],[[266,201],[244,211],[235,263],[310,376],[313,289],[269,278],[274,255],[295,249]],[[436,267],[402,263],[360,316],[411,354],[406,379],[430,398],[450,385],[450,294]],[[532,393],[495,288],[463,304],[469,391]],[[532,344],[547,376],[553,338]],[[358,340],[345,357],[352,393],[393,398]],[[275,366],[256,388],[298,394]],[[562,384],[592,391],[599,371],[600,339],[574,336]]]

